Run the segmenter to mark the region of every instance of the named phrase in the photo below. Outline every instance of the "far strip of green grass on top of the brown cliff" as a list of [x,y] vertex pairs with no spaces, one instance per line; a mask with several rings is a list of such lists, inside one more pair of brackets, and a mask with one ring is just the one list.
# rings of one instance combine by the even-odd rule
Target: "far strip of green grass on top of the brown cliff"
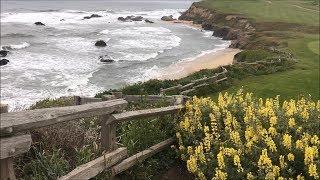
[[[226,13],[239,13],[264,22],[298,23],[319,25],[319,11],[307,1],[289,0],[205,0],[206,7]],[[299,6],[299,7],[297,7]],[[319,10],[319,8],[317,8]]]

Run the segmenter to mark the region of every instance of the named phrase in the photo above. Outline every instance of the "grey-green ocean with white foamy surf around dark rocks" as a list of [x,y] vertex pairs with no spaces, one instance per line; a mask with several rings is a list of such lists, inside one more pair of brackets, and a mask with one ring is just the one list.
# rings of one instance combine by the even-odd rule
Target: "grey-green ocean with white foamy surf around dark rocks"
[[[225,49],[210,31],[161,21],[192,1],[1,1],[1,102],[11,111],[44,98],[96,93],[161,76],[171,64]],[[102,17],[83,19],[98,14]],[[122,22],[142,16],[154,21]],[[35,22],[46,26],[36,26]],[[104,40],[107,46],[94,46]],[[108,55],[113,63],[98,57]]]

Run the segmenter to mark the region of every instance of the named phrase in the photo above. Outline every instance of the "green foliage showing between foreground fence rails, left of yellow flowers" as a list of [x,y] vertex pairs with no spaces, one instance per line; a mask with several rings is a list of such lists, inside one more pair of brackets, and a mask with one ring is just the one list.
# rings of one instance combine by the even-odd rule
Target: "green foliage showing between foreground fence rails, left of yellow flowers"
[[[147,106],[146,106],[147,105]],[[147,104],[143,99],[138,103],[130,103],[129,109],[138,110],[145,108],[164,107],[168,104],[164,101],[155,104]],[[179,114],[165,115],[153,118],[135,119],[119,125],[117,134],[120,143],[127,147],[128,154],[141,152],[161,141],[174,136],[175,123]],[[175,153],[168,149],[148,158],[146,161],[135,165],[121,176],[133,179],[152,179],[160,172],[171,167],[175,163]]]

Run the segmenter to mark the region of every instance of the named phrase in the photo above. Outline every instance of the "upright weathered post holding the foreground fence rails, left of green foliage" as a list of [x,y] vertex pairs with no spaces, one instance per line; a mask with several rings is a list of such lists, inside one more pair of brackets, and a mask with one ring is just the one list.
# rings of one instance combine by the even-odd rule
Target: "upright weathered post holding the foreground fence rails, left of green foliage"
[[101,146],[107,152],[117,149],[116,123],[107,124],[111,115],[101,116]]

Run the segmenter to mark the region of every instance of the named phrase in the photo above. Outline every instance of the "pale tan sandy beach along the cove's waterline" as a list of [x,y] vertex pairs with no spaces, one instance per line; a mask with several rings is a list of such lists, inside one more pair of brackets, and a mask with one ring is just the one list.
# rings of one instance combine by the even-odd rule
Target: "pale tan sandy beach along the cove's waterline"
[[[175,20],[171,23],[181,23],[202,29],[201,25],[193,24],[192,21]],[[160,72],[161,75],[158,79],[180,79],[194,72],[200,71],[201,69],[214,69],[219,66],[232,64],[234,55],[239,52],[241,52],[240,49],[227,48],[198,56],[189,61],[180,61],[163,69]]]

